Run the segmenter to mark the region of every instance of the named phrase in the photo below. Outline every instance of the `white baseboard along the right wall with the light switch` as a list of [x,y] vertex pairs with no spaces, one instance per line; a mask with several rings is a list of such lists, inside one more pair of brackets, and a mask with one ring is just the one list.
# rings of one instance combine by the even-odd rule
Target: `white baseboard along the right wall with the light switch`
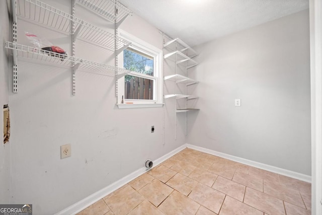
[[279,168],[279,167],[274,167],[274,166],[270,166],[270,165],[267,165],[267,164],[262,164],[262,163],[259,163],[259,162],[247,160],[245,158],[239,158],[239,157],[236,157],[236,156],[224,154],[224,153],[221,153],[221,152],[216,152],[216,151],[213,151],[213,150],[205,149],[205,148],[202,148],[202,147],[197,147],[197,146],[190,145],[190,144],[186,144],[185,146],[187,148],[190,148],[190,149],[193,149],[193,150],[198,150],[198,151],[204,152],[204,153],[208,153],[210,155],[218,156],[218,157],[225,158],[225,159],[228,159],[228,160],[231,160],[231,161],[235,161],[235,162],[238,162],[238,163],[241,163],[241,164],[245,164],[245,165],[248,165],[248,166],[256,167],[256,168],[259,168],[259,169],[267,170],[267,171],[274,172],[274,173],[277,173],[277,174],[280,174],[280,175],[284,175],[284,176],[287,176],[287,177],[291,177],[291,178],[295,178],[295,179],[298,179],[298,180],[301,180],[301,181],[311,183],[311,176],[309,176],[309,175],[304,175],[304,174],[293,172],[293,171],[290,171],[290,170],[285,170],[285,169],[282,169],[282,168]]

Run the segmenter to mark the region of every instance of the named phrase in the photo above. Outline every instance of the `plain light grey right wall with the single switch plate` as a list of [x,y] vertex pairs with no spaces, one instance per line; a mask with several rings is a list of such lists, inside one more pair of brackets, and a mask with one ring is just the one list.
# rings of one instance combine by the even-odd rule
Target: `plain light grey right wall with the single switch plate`
[[310,175],[308,10],[195,49],[188,143]]

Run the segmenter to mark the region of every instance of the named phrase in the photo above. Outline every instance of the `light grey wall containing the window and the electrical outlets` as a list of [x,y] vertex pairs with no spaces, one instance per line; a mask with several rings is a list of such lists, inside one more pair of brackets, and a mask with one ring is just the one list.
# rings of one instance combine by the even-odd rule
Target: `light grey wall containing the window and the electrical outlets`
[[[45,2],[71,10],[70,1]],[[76,16],[108,26],[79,6]],[[71,52],[70,36],[22,20],[18,24],[18,41],[28,44],[24,31],[30,31]],[[162,49],[162,35],[136,15],[121,28]],[[78,57],[113,64],[112,55],[95,45],[76,43]],[[105,75],[78,70],[72,96],[70,68],[20,60],[19,93],[10,93],[10,101],[11,203],[32,203],[34,214],[60,211],[140,169],[147,158],[153,161],[185,142],[183,133],[174,140],[174,109],[166,109],[163,145],[163,109],[118,109],[114,78]],[[71,144],[72,155],[60,160],[60,145],[65,144]]]

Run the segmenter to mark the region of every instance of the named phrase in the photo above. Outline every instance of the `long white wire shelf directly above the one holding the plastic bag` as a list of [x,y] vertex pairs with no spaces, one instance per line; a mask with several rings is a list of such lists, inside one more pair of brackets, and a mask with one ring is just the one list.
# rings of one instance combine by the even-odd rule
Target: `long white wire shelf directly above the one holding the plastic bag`
[[[79,38],[111,51],[116,49],[116,51],[120,52],[131,44],[125,39],[38,0],[18,0],[17,15],[22,19],[73,35],[73,40]],[[72,26],[73,22],[74,28]]]

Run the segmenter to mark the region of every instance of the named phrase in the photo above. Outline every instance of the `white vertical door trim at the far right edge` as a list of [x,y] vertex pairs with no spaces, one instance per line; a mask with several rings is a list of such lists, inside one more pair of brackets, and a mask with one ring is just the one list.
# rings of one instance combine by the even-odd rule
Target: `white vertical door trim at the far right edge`
[[310,0],[312,214],[322,214],[322,4]]

